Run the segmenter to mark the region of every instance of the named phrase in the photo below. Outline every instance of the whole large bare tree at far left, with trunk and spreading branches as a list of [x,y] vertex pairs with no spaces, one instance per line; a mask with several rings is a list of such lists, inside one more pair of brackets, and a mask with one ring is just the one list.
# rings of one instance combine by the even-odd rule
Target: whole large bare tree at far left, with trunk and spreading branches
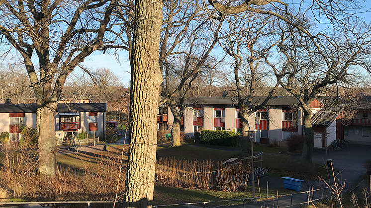
[[[40,176],[52,178],[57,173],[54,116],[66,78],[103,48],[117,2],[0,1],[1,35],[22,56],[35,93]],[[37,61],[31,59],[34,55]]]

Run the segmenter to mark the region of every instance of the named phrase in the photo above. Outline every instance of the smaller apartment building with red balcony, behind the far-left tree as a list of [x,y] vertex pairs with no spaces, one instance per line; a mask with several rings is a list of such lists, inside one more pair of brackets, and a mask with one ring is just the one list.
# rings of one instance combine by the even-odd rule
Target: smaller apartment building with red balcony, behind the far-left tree
[[[54,117],[57,139],[68,139],[86,131],[99,137],[105,131],[105,103],[58,103]],[[19,126],[36,127],[36,104],[0,104],[0,132],[8,132],[9,139],[20,139]]]

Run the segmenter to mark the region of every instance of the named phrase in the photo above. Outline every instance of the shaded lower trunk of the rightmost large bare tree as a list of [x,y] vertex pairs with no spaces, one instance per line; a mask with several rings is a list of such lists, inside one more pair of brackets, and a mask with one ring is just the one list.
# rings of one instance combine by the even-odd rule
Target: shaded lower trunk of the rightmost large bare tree
[[312,128],[312,119],[311,113],[304,111],[304,146],[302,152],[302,162],[303,163],[311,163],[312,162],[312,154],[313,154],[313,146],[314,146],[314,131]]

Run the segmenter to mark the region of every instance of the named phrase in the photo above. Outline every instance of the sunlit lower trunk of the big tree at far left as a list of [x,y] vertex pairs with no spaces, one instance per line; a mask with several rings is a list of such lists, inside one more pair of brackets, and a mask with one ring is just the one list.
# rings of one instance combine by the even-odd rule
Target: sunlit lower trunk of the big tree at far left
[[39,138],[39,175],[45,178],[53,178],[58,173],[57,141],[54,129],[57,104],[57,102],[37,103],[36,126]]

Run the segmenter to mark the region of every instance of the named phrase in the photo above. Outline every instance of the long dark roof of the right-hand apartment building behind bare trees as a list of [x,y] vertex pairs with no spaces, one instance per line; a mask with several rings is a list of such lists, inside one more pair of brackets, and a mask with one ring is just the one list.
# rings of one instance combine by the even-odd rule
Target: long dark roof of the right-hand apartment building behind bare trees
[[[259,105],[264,101],[265,97],[253,97],[251,105]],[[191,97],[185,98],[185,104],[189,105],[238,105],[237,97]],[[275,96],[272,97],[267,106],[298,106],[299,102],[293,96]]]

